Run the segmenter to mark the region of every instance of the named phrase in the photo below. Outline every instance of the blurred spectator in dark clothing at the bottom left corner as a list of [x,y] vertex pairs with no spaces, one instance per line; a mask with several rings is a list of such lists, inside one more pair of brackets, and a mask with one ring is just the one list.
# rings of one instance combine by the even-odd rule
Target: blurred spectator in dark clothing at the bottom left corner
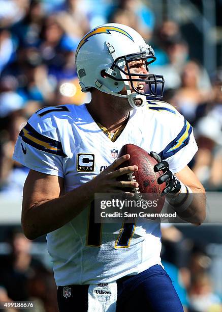
[[30,301],[34,308],[28,311],[56,312],[57,287],[53,273],[31,255],[31,241],[15,228],[9,231],[7,243],[9,253],[0,257],[0,303]]

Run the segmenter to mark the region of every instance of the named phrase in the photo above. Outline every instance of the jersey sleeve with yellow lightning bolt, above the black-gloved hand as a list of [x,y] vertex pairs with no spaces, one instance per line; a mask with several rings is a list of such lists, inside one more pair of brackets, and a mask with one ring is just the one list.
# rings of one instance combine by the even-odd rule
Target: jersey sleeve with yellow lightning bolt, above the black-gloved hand
[[177,113],[173,127],[171,141],[160,152],[163,160],[169,163],[173,173],[182,170],[194,157],[198,147],[194,138],[192,125]]

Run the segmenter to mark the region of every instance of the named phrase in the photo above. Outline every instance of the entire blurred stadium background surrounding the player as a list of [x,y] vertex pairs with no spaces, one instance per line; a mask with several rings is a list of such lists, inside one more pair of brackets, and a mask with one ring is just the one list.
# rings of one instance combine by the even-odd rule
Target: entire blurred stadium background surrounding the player
[[78,86],[74,51],[88,30],[110,21],[153,46],[150,71],[165,76],[164,100],[194,126],[199,151],[189,166],[218,222],[164,224],[162,258],[185,311],[222,311],[222,0],[0,0],[0,8],[0,301],[57,311],[45,237],[30,242],[21,233],[28,168],[12,154],[36,110],[90,100]]

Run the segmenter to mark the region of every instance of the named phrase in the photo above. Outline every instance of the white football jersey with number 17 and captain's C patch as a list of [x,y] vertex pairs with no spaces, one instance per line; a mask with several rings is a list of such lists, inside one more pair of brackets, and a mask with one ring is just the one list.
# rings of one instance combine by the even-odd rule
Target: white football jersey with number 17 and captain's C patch
[[[13,159],[33,170],[63,177],[65,192],[69,192],[109,166],[128,143],[160,153],[173,173],[183,169],[197,151],[192,126],[184,117],[168,103],[151,100],[131,111],[115,142],[85,105],[45,107],[21,130]],[[57,285],[112,282],[161,264],[161,230],[156,220],[143,218],[145,221],[128,228],[130,237],[124,237],[122,224],[96,225],[91,213],[92,207],[86,207],[47,235]]]

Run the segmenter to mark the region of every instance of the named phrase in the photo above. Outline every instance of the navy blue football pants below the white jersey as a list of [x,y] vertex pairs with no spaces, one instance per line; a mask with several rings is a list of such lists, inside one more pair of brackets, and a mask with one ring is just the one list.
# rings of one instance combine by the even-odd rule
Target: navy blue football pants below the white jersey
[[[57,292],[60,312],[87,312],[88,285],[69,285],[71,296]],[[117,280],[116,312],[183,312],[180,299],[167,272],[160,265]]]

